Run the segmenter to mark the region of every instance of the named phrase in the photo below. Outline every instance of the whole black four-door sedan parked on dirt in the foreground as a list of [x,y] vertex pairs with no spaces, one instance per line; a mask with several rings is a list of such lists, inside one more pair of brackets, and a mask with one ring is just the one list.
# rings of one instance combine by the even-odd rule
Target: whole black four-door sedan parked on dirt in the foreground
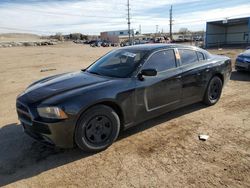
[[175,44],[113,50],[88,68],[39,80],[17,97],[24,131],[58,147],[110,146],[121,130],[192,103],[214,105],[231,60]]

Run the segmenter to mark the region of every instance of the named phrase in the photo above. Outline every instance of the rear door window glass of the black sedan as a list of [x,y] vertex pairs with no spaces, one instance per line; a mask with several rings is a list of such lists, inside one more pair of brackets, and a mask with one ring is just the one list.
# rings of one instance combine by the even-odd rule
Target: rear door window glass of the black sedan
[[196,51],[186,50],[186,49],[179,49],[178,51],[181,56],[182,65],[188,65],[188,64],[195,63],[198,61]]

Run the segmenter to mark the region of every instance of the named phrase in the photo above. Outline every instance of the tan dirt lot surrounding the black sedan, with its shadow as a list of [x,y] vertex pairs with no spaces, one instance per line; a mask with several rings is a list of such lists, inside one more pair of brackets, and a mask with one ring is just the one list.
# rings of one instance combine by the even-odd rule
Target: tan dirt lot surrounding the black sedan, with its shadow
[[[142,123],[94,155],[54,150],[22,132],[15,99],[28,84],[86,67],[109,50],[73,43],[0,49],[0,186],[250,187],[248,73],[233,72],[215,106],[198,103]],[[213,52],[235,58],[240,51]],[[200,133],[210,138],[199,141]]]

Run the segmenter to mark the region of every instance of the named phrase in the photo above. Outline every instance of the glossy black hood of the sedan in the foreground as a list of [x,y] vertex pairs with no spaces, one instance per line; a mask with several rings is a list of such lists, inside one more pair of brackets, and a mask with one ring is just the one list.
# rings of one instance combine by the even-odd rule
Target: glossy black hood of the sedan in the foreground
[[21,95],[38,102],[62,92],[107,82],[108,79],[79,71],[47,77],[31,84]]

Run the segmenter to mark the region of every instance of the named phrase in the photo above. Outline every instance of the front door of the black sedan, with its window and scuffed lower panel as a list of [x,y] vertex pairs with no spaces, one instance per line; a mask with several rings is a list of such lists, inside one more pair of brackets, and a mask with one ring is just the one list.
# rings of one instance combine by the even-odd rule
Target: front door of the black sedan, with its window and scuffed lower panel
[[137,80],[136,97],[140,114],[155,115],[171,110],[179,103],[182,86],[181,70],[174,49],[154,52],[142,69],[156,69],[157,75],[144,76],[143,80]]

